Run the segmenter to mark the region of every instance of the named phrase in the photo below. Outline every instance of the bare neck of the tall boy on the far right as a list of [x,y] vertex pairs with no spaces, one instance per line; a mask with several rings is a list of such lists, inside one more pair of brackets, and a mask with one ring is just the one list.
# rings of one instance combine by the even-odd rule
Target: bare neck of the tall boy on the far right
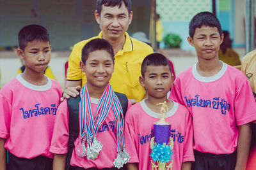
[[[216,60],[217,59],[217,60]],[[221,70],[222,63],[218,58],[214,60],[198,60],[196,70],[201,76],[209,77]]]

